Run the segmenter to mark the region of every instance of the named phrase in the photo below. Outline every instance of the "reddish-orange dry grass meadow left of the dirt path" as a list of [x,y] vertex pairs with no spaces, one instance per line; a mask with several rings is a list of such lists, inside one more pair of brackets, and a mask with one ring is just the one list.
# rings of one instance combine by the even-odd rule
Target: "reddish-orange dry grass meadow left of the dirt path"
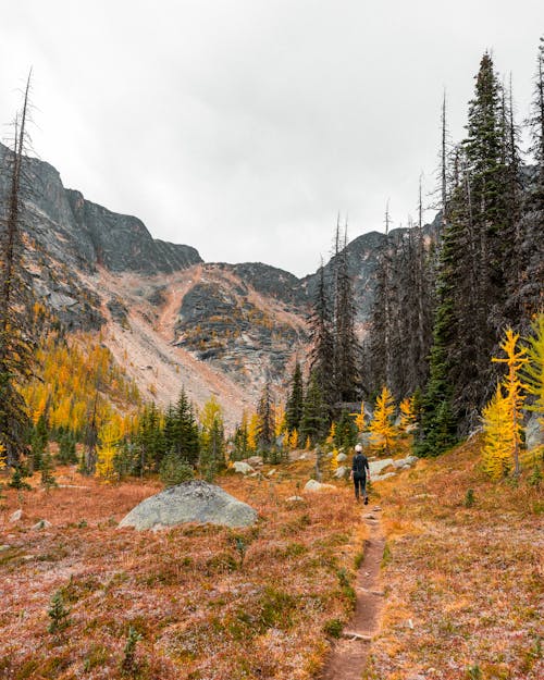
[[[0,678],[310,678],[327,648],[324,626],[351,610],[342,570],[353,579],[364,530],[348,487],[286,502],[309,465],[282,467],[275,482],[221,480],[260,514],[237,532],[116,530],[154,483],[102,486],[63,469],[61,483],[84,489],[4,492]],[[9,523],[20,507],[23,519]],[[33,530],[42,518],[53,527]],[[54,636],[47,611],[59,590],[71,622]],[[123,676],[129,627],[143,639]]]

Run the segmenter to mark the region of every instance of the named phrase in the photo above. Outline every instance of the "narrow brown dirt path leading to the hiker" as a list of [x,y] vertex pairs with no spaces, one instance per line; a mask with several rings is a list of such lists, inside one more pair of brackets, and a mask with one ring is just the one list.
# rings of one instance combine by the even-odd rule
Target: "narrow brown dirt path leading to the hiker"
[[343,639],[335,643],[320,676],[321,680],[360,680],[370,652],[370,642],[379,628],[383,592],[379,586],[385,539],[379,521],[380,510],[362,512],[370,529],[364,545],[364,557],[357,573],[357,605]]

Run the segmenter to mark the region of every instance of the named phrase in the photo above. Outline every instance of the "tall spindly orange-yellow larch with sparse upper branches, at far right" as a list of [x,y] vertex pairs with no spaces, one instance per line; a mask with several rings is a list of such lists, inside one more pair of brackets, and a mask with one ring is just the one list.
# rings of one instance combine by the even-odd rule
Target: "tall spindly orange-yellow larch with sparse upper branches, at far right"
[[527,349],[524,347],[518,347],[519,334],[514,333],[511,329],[506,329],[505,338],[500,343],[500,349],[505,353],[506,357],[493,357],[492,361],[495,363],[504,363],[507,368],[507,373],[502,381],[504,387],[505,398],[508,401],[509,408],[509,421],[511,428],[511,452],[514,457],[514,472],[519,474],[519,449],[521,444],[521,430],[522,430],[522,408],[526,400],[523,394],[523,386],[520,379],[520,371],[529,361],[527,357]]

